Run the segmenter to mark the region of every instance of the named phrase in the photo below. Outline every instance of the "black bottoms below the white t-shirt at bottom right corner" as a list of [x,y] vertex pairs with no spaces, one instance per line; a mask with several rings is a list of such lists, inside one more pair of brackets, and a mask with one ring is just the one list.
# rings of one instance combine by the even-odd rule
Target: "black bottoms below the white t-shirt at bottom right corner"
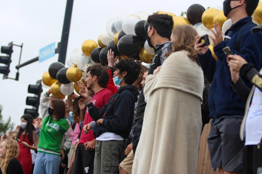
[[262,149],[257,145],[249,145],[244,148],[244,160],[242,174],[262,174]]

